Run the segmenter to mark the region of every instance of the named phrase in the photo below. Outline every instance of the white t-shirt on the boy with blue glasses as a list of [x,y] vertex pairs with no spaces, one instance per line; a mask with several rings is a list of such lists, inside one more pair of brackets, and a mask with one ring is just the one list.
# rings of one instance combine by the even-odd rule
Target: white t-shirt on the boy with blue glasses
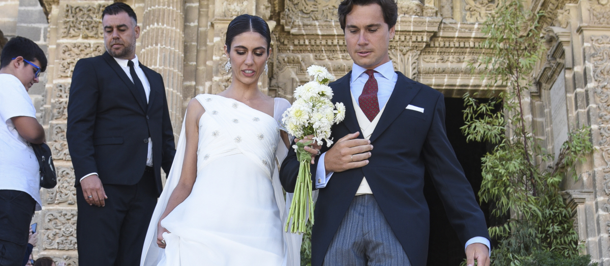
[[26,87],[10,74],[0,74],[0,189],[24,191],[40,210],[40,174],[34,150],[19,135],[12,117],[34,117],[36,109]]

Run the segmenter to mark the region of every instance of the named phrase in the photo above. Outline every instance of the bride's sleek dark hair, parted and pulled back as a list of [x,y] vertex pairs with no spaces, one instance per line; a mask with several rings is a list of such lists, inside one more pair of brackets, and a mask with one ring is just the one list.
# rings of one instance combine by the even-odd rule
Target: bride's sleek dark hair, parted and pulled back
[[271,46],[271,31],[269,30],[269,25],[265,19],[248,14],[239,15],[229,23],[226,41],[224,41],[228,51],[231,50],[231,43],[235,36],[244,32],[256,32],[263,36],[267,41],[267,53],[269,53],[269,48]]

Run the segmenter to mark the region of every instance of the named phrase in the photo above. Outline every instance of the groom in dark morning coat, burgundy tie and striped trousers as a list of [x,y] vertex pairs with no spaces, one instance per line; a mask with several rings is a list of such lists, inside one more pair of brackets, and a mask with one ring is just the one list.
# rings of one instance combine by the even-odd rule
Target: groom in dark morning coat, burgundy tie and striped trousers
[[[476,259],[488,266],[486,222],[447,139],[443,95],[394,72],[389,59],[397,3],[344,0],[338,13],[354,64],[330,84],[332,101],[346,106],[345,120],[332,128],[331,137],[340,139],[312,165],[319,191],[312,265],[426,265],[427,170],[468,265]],[[288,192],[298,168],[290,149],[280,170]]]

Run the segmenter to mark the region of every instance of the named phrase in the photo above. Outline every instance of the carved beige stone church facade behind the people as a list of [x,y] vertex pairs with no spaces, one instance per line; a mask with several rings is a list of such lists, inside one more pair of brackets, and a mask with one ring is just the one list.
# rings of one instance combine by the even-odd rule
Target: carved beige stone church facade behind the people
[[[502,0],[398,0],[396,35],[390,59],[396,70],[428,84],[445,97],[483,92],[485,80],[470,63],[484,41],[481,22]],[[0,33],[17,24],[17,9],[26,0],[0,0]],[[42,0],[48,19],[44,45],[49,67],[38,99],[59,174],[54,189],[41,189],[43,210],[37,255],[78,264],[76,188],[66,143],[66,106],[74,65],[80,58],[104,52],[101,12],[112,0]],[[264,18],[271,28],[273,53],[260,89],[292,101],[293,89],[309,81],[311,64],[334,75],[348,73],[352,61],[337,21],[339,0],[126,0],[134,7],[142,35],[140,61],[161,73],[176,135],[188,101],[197,94],[216,94],[231,84],[224,70],[226,28],[237,15]],[[578,181],[565,180],[564,197],[575,215],[575,227],[600,265],[610,266],[610,3],[608,0],[524,1],[545,13],[540,29],[548,53],[539,63],[524,101],[526,120],[548,151],[556,151],[564,132],[592,128],[596,151],[575,169]],[[7,10],[7,12],[4,12]],[[26,9],[27,10],[27,9]],[[13,23],[15,22],[15,23]],[[0,34],[0,46],[2,44]],[[504,89],[495,87],[495,89]],[[559,94],[559,95],[558,95]]]

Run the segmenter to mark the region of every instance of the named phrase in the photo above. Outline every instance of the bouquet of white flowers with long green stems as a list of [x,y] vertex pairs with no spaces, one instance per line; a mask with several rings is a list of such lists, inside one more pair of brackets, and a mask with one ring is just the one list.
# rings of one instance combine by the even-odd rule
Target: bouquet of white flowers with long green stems
[[312,199],[312,180],[310,171],[311,154],[304,147],[312,142],[331,146],[331,126],[345,118],[343,103],[332,104],[332,89],[328,83],[335,77],[326,70],[326,67],[310,66],[307,73],[314,77],[303,86],[295,90],[295,102],[282,115],[282,123],[287,131],[301,140],[307,135],[314,135],[309,142],[297,142],[292,147],[296,151],[296,159],[301,163],[296,179],[295,194],[290,205],[285,231],[288,231],[292,218],[290,232],[303,233],[306,229],[306,216],[309,209],[309,220],[314,223],[314,201]]

